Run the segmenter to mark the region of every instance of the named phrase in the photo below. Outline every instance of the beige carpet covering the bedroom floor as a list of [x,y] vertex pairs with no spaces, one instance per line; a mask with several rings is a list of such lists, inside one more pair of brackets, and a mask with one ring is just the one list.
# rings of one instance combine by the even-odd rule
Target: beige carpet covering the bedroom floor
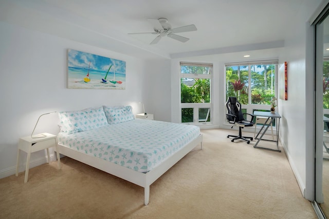
[[202,132],[204,149],[151,185],[148,206],[143,188],[65,157],[61,170],[30,169],[26,184],[24,172],[0,179],[0,218],[317,218],[284,152]]

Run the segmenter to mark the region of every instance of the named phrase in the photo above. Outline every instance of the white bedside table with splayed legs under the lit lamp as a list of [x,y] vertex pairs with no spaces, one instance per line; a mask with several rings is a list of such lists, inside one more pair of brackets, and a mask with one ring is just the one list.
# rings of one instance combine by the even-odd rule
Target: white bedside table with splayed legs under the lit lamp
[[61,169],[61,160],[60,160],[60,154],[57,150],[56,135],[52,135],[49,133],[42,133],[41,135],[45,135],[45,137],[31,138],[31,136],[26,136],[26,137],[20,138],[20,140],[19,140],[15,175],[16,176],[19,175],[20,151],[25,151],[27,153],[27,159],[26,159],[24,182],[27,182],[27,177],[29,174],[30,157],[31,157],[32,152],[47,149],[48,163],[50,163],[49,148],[56,147],[58,169]]

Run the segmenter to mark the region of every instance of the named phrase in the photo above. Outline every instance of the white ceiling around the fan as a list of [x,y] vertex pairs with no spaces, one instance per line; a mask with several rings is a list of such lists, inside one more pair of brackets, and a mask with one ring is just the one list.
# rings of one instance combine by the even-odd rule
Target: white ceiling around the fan
[[[310,0],[1,0],[0,21],[138,57],[188,57],[191,54],[278,48],[294,31],[301,5]],[[320,0],[312,0],[320,2]],[[147,18],[166,17],[186,43],[155,35]],[[299,21],[300,22],[300,21]],[[305,21],[306,22],[306,21]]]

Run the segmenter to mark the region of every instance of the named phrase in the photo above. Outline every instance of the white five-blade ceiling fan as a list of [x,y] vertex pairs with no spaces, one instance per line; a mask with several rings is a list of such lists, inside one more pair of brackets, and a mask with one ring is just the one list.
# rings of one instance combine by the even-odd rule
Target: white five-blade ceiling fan
[[182,26],[182,27],[176,27],[171,28],[171,25],[168,23],[168,20],[165,18],[159,18],[159,19],[148,19],[153,26],[155,32],[144,32],[144,33],[128,33],[128,34],[157,34],[156,38],[150,43],[150,44],[156,44],[160,41],[162,36],[168,36],[171,39],[178,40],[182,43],[185,43],[186,41],[190,40],[189,38],[186,38],[184,36],[177,35],[175,33],[181,33],[181,32],[189,32],[189,31],[195,31],[197,30],[194,24]]

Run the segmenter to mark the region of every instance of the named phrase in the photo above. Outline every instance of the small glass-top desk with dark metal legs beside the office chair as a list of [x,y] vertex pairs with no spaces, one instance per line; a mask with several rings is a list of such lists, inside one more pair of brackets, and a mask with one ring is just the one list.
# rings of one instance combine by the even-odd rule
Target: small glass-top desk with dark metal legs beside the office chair
[[[271,113],[271,112],[254,111],[253,115],[256,116],[256,117],[257,116],[267,117],[265,124],[263,124],[261,130],[257,133],[257,136],[255,137],[255,139],[258,139],[258,141],[255,143],[255,145],[253,147],[254,148],[261,148],[261,149],[267,149],[267,150],[271,150],[271,151],[281,152],[281,150],[279,150],[279,129],[280,129],[280,118],[281,118],[280,114],[277,113],[277,112]],[[269,120],[270,120],[270,122],[268,122]],[[275,140],[263,139],[264,134],[266,133],[266,131],[268,130],[268,127],[270,127],[270,125],[272,124],[273,121],[276,121],[277,139],[275,139]],[[265,128],[265,130],[262,133],[264,128]],[[258,138],[259,135],[261,135],[261,136]],[[261,140],[276,142],[277,143],[277,149],[258,147],[257,145]]]

